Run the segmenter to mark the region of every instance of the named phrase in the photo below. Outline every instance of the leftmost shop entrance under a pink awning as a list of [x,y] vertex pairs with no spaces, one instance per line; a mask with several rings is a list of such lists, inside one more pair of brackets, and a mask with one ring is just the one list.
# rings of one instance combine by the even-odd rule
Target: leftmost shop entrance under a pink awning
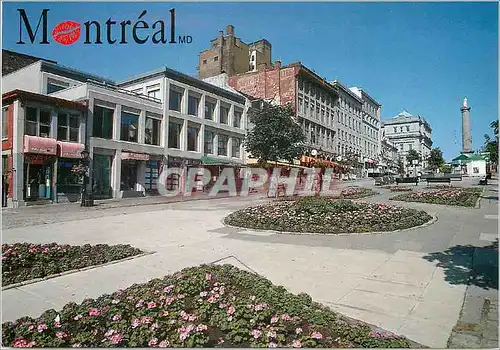
[[23,199],[25,201],[53,200],[57,141],[50,138],[25,135],[23,152]]

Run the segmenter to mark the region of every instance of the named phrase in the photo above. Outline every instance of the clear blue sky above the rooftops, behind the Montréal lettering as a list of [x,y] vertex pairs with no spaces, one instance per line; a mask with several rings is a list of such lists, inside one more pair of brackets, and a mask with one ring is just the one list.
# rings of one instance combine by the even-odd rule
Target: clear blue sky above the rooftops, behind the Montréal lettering
[[[274,59],[302,61],[328,80],[360,86],[382,104],[382,118],[403,109],[425,117],[445,158],[461,148],[460,105],[472,106],[474,148],[498,118],[497,3],[3,3],[3,48],[56,60],[111,79],[162,66],[195,75],[198,53],[227,24],[245,42],[265,38]],[[16,44],[17,9],[36,25],[50,9],[50,32],[65,20],[101,23],[112,17],[152,25],[176,9],[182,45]],[[134,22],[132,22],[133,24]],[[118,32],[116,28],[114,32]]]

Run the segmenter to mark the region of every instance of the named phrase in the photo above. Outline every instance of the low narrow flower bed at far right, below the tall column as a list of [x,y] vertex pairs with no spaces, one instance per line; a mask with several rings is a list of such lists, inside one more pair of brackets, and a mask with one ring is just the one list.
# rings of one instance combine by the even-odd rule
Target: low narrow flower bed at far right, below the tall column
[[412,193],[400,194],[391,198],[392,200],[405,202],[420,202],[430,204],[455,205],[463,207],[474,207],[481,195],[482,189],[469,188],[448,188],[432,191],[416,191]]

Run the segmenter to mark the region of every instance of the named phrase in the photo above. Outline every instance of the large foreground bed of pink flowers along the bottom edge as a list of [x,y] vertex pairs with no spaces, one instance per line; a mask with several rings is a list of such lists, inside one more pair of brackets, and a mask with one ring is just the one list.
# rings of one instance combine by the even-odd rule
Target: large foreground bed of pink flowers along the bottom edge
[[14,347],[422,347],[230,265],[199,266],[2,325]]

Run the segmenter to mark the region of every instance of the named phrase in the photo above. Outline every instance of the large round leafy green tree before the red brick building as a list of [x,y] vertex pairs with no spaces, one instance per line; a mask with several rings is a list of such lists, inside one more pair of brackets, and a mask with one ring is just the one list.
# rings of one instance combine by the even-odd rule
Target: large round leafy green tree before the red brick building
[[264,102],[262,108],[250,112],[253,128],[245,139],[245,148],[259,162],[292,161],[303,153],[305,135],[294,121],[288,106]]

